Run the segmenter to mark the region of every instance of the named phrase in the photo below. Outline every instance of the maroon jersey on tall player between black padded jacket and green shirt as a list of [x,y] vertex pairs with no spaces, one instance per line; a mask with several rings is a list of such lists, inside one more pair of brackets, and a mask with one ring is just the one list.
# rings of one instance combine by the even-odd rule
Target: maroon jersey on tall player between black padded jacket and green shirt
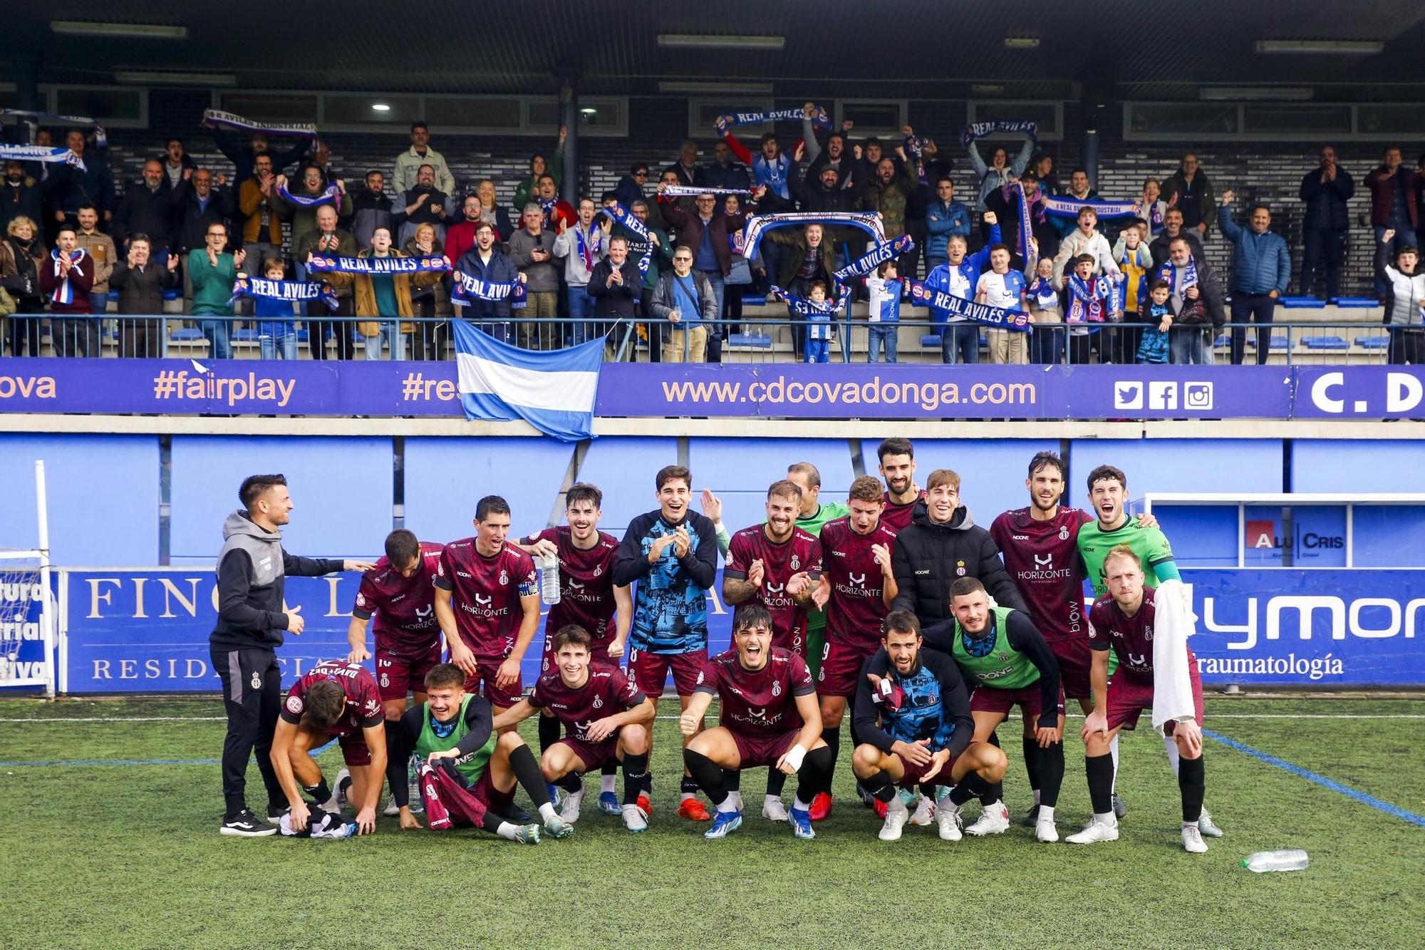
[[1083,582],[1087,573],[1079,556],[1079,528],[1093,515],[1059,506],[1049,521],[1035,521],[1029,508],[1006,511],[989,528],[1005,558],[1005,568],[1029,606],[1029,618],[1046,640],[1087,636]]

